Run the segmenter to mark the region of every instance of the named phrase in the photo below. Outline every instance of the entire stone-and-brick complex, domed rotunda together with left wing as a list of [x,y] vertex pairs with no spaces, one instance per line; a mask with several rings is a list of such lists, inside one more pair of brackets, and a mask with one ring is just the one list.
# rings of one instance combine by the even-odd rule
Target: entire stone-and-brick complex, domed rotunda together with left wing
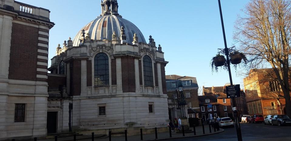
[[1,0],[0,140],[168,123],[162,47],[118,14],[117,0],[102,1],[101,15],[58,45],[48,68],[49,13]]

